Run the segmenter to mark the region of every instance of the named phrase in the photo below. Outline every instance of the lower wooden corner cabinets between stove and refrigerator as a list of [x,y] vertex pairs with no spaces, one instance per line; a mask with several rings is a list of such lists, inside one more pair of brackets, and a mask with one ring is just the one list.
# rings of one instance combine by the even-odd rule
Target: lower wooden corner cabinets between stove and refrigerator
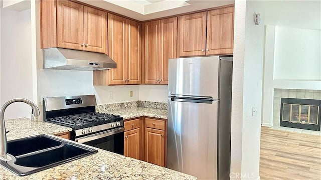
[[125,121],[124,127],[124,156],[166,167],[166,119],[140,117]]

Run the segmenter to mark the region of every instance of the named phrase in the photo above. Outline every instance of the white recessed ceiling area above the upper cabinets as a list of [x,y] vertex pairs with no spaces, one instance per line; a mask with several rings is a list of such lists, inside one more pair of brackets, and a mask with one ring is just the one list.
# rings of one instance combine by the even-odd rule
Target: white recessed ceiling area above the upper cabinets
[[163,18],[218,6],[234,4],[234,1],[203,0],[78,0],[138,21]]

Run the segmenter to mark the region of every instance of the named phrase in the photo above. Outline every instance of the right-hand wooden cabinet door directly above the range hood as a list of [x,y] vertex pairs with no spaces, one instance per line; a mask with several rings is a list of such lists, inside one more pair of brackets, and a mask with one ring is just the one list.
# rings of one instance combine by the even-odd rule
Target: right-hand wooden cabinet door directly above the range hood
[[106,53],[107,13],[84,6],[85,51]]

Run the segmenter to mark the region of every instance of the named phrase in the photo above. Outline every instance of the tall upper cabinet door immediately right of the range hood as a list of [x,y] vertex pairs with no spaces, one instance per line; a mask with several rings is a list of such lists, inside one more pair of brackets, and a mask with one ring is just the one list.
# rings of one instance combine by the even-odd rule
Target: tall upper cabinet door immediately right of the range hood
[[109,85],[126,84],[126,19],[108,14],[108,55],[117,63],[109,71]]

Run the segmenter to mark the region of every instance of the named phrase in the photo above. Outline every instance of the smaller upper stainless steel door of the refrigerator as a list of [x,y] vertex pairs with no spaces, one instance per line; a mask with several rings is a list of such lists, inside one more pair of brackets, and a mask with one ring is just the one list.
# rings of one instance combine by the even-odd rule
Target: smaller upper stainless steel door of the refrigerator
[[170,59],[169,80],[168,96],[181,94],[218,99],[219,57]]

